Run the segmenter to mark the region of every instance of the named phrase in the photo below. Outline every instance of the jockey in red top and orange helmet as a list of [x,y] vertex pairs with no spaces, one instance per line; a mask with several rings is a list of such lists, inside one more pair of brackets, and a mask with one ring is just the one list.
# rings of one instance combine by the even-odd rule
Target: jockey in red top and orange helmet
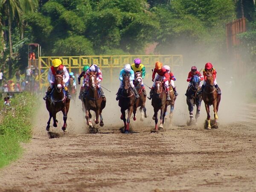
[[[157,73],[157,77],[155,78],[155,75]],[[167,91],[167,100],[171,100],[170,98],[170,92],[169,92],[169,73],[167,72],[166,69],[163,68],[163,64],[159,61],[156,62],[155,64],[155,68],[154,68],[154,72],[152,74],[152,81],[154,81],[152,87],[151,87],[151,90],[150,90],[150,93],[149,93],[149,96],[148,96],[148,99],[151,99],[152,95],[153,95],[153,92],[154,92],[154,87],[155,87],[155,83],[156,83],[156,80],[159,81],[159,80],[163,80],[164,82],[164,87],[166,88],[166,91]]]

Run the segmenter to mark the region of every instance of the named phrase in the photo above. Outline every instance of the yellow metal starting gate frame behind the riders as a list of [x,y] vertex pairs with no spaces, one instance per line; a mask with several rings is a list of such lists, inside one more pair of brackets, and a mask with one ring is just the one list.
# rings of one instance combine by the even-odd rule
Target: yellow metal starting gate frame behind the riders
[[[169,65],[171,69],[182,67],[182,55],[93,55],[93,56],[56,56],[39,57],[40,87],[47,82],[47,73],[55,58],[61,59],[69,72],[81,73],[85,65],[97,64],[103,70],[104,77],[113,80],[113,70],[122,68],[125,64],[132,64],[135,58],[140,58],[145,67],[154,67],[156,61]],[[104,73],[104,71],[106,73]]]

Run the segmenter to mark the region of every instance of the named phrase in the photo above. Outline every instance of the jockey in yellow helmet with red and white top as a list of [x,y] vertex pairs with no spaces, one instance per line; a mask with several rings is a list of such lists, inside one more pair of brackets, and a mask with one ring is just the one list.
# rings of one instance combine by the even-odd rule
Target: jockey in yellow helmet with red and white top
[[52,92],[52,88],[53,88],[53,85],[54,85],[54,80],[55,80],[55,75],[56,73],[64,73],[64,78],[63,78],[63,82],[64,82],[64,89],[65,89],[65,92],[67,94],[67,98],[68,99],[71,99],[71,96],[70,96],[70,93],[68,92],[68,89],[67,87],[65,86],[65,84],[68,82],[69,80],[69,74],[67,72],[67,68],[62,65],[62,62],[60,59],[53,59],[52,60],[52,67],[49,68],[49,71],[48,71],[48,81],[50,83],[50,86],[48,87],[47,89],[47,93],[46,93],[46,96],[44,96],[44,100],[46,100],[47,98],[49,98],[49,94]]

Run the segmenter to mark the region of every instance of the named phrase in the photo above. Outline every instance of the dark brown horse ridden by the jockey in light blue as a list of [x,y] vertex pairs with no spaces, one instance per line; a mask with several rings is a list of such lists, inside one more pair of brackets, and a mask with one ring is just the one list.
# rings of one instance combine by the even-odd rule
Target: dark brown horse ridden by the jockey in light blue
[[[136,102],[136,98],[134,95],[133,88],[131,87],[131,84],[130,84],[130,76],[127,74],[123,75],[122,87],[123,89],[119,95],[118,105],[121,108],[121,113],[122,113],[120,119],[123,120],[124,126],[125,126],[124,133],[128,134],[130,117],[131,117],[131,113],[134,110],[134,104]],[[128,110],[127,119],[125,119],[125,110]]]

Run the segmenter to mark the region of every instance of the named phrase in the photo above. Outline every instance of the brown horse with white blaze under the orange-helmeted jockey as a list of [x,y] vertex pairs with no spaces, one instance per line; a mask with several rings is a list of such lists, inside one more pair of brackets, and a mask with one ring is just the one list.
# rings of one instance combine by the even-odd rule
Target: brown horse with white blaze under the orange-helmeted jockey
[[153,120],[155,120],[155,129],[152,130],[151,132],[158,132],[158,127],[157,127],[157,113],[160,110],[160,125],[159,128],[163,128],[163,123],[164,123],[164,117],[166,115],[166,110],[167,110],[167,101],[166,101],[166,91],[163,89],[163,82],[162,81],[156,81],[155,83],[155,88],[154,88],[154,93],[152,95],[152,102],[151,105],[154,108],[154,116]]

